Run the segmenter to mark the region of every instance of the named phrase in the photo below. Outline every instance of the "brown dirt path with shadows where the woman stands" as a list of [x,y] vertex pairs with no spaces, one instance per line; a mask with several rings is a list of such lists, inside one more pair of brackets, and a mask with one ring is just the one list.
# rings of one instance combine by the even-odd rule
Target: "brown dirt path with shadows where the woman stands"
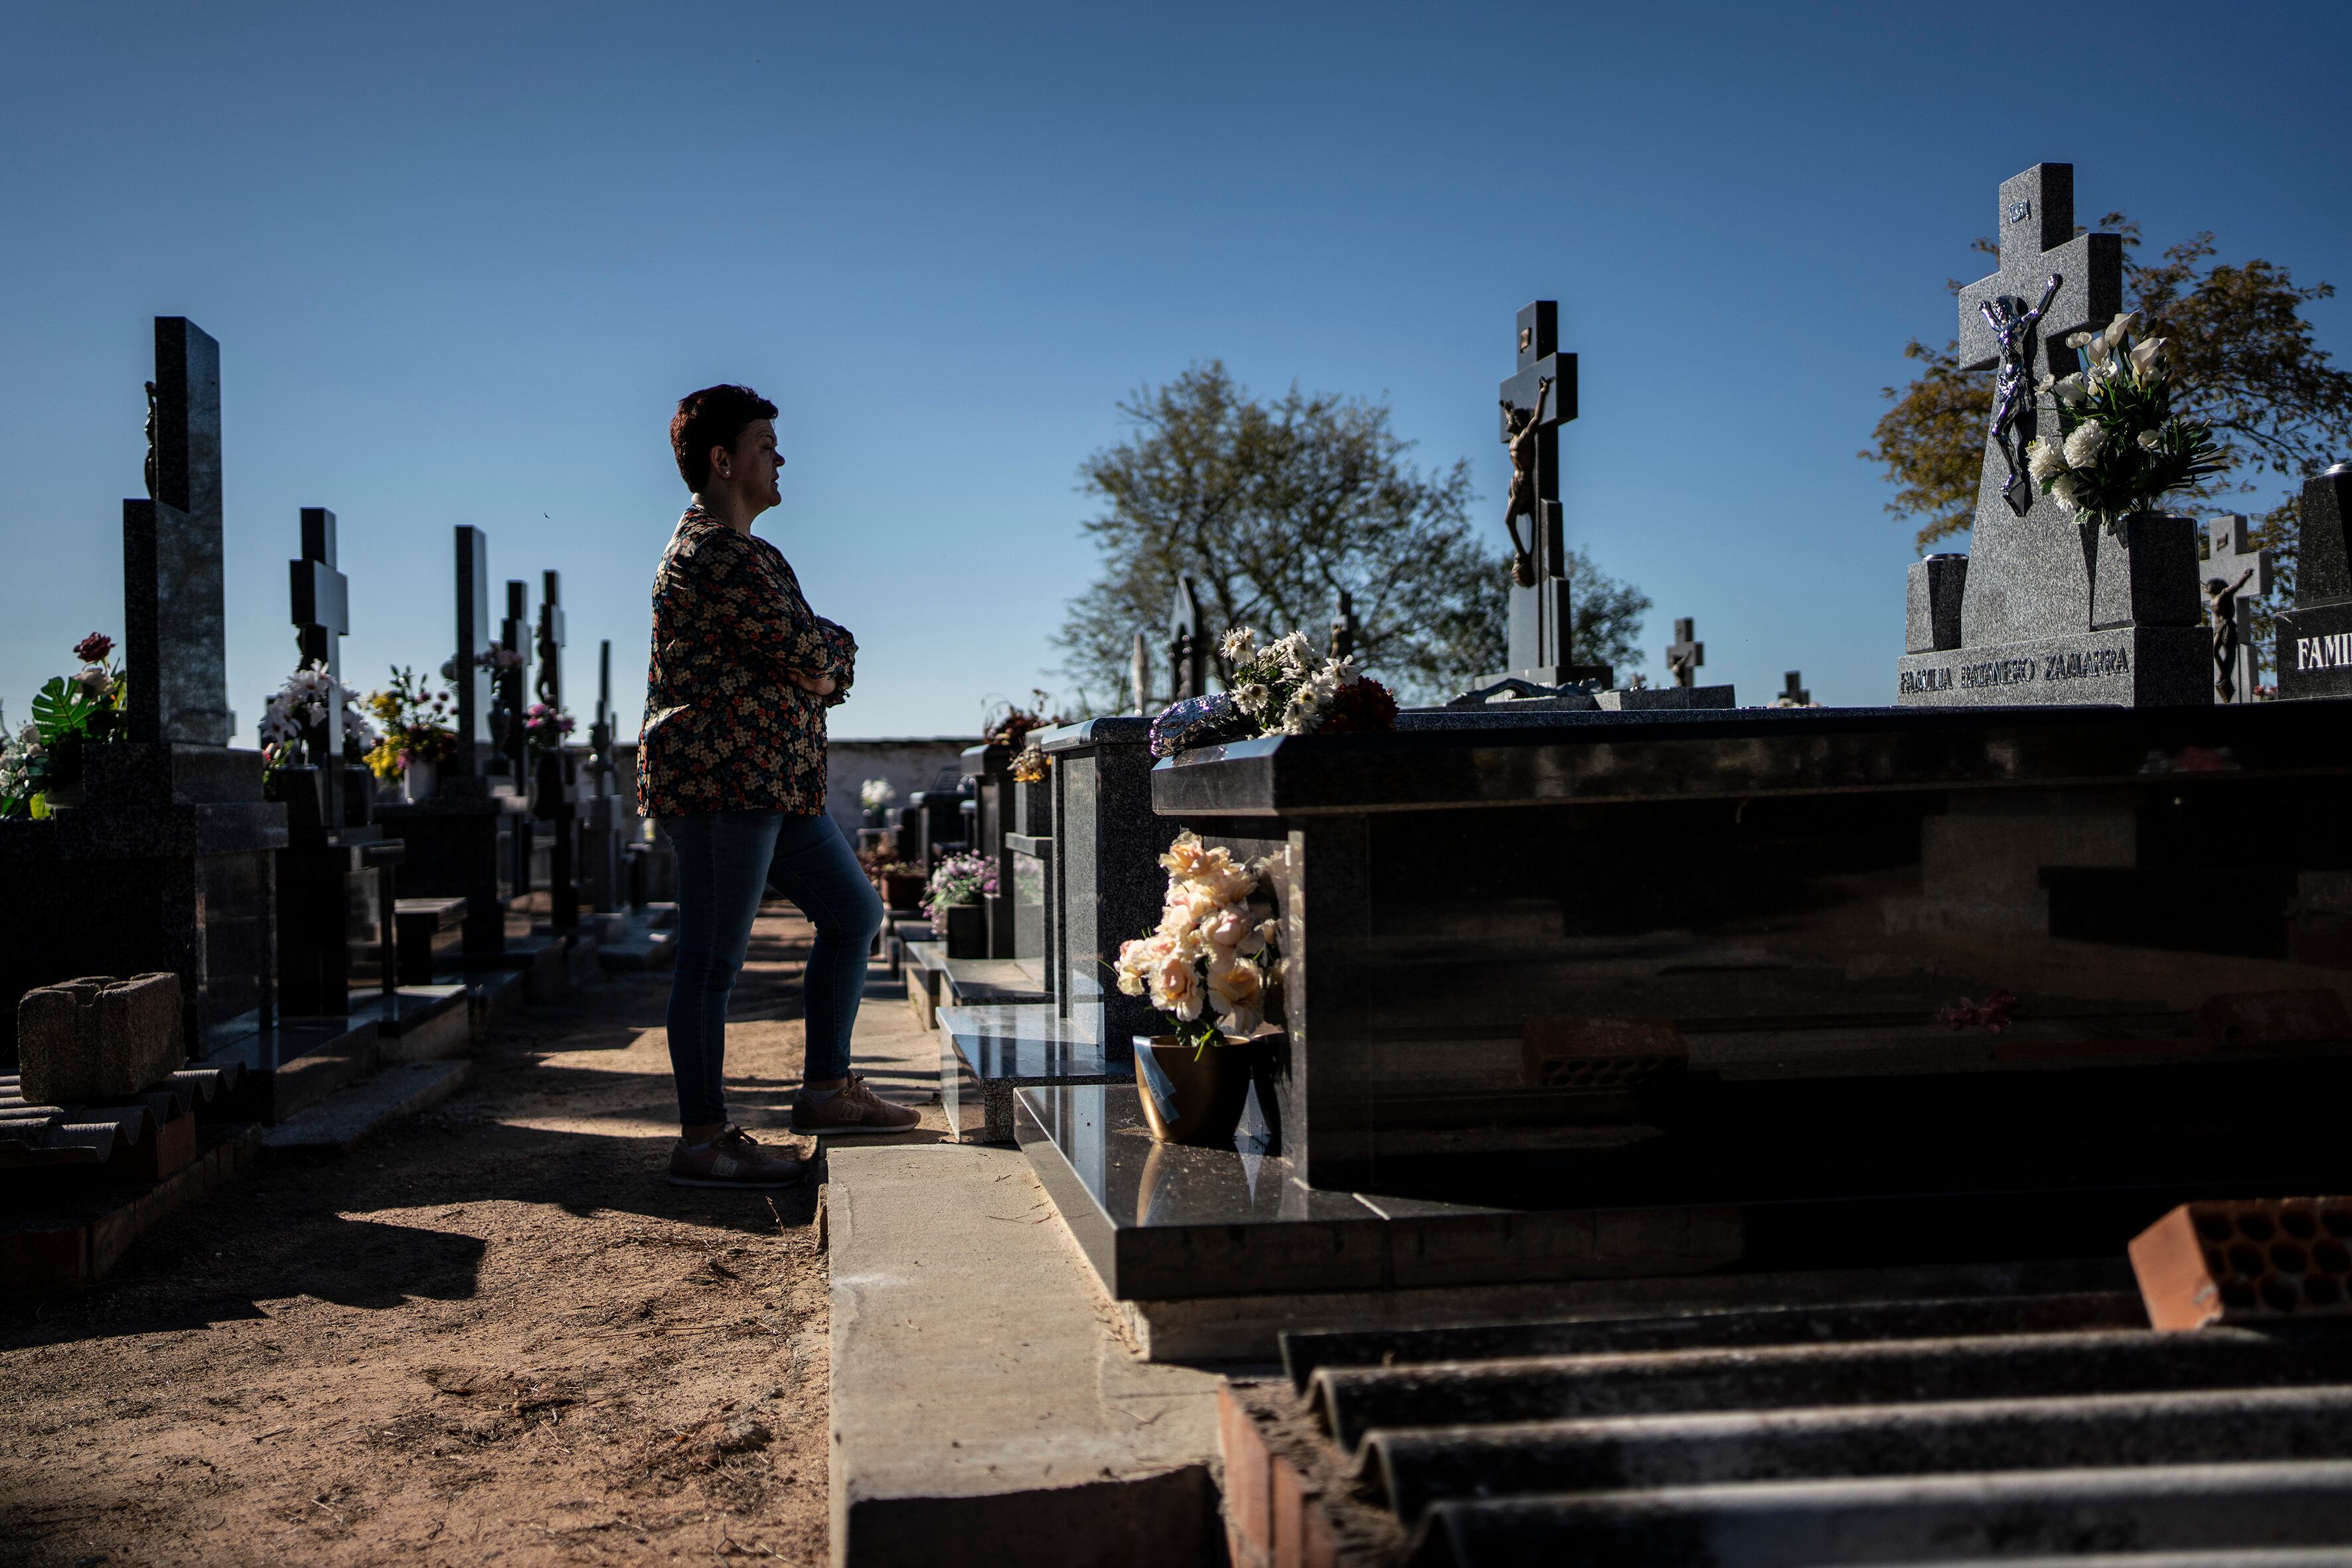
[[[762,914],[736,987],[755,1131],[800,1074],[807,936]],[[534,1009],[447,1107],[5,1309],[0,1561],[826,1561],[816,1194],[661,1180],[666,994]]]

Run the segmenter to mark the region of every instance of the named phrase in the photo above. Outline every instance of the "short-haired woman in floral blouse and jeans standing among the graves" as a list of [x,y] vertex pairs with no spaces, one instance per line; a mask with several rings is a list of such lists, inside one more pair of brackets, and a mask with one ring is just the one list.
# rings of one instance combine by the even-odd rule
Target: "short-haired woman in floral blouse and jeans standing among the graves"
[[826,708],[858,644],[809,611],[783,552],[750,524],[783,501],[776,404],[743,386],[687,395],[670,421],[694,498],[654,574],[654,663],[637,809],[677,846],[670,1070],[680,1187],[790,1187],[800,1159],[727,1121],[727,997],[774,882],[816,924],[795,1133],[903,1133],[920,1114],[849,1072],[849,1030],[882,900],[826,816]]

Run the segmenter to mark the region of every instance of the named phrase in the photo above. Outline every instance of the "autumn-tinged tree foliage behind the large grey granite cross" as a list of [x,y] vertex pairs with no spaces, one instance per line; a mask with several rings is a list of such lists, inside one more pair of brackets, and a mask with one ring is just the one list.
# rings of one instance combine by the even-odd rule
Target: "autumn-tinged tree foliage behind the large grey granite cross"
[[[2138,310],[2150,336],[2173,341],[2180,364],[2180,414],[2213,428],[2237,470],[2190,491],[2244,494],[2253,475],[2300,480],[2352,444],[2352,374],[2328,364],[2312,343],[2303,306],[2336,294],[2333,284],[2298,284],[2270,261],[2216,263],[2211,233],[2138,259],[2140,228],[2119,212],[2098,221],[2124,235],[2124,308]],[[1997,254],[1990,240],[1978,252]],[[1955,294],[1959,282],[1947,284]],[[1896,484],[1886,510],[1919,522],[1919,548],[1962,534],[1976,517],[1976,484],[1992,418],[1992,371],[1962,371],[1959,343],[1912,341],[1919,362],[1910,386],[1886,388],[1893,404],[1872,430],[1863,461],[1882,463]],[[2291,552],[2291,529],[2270,517],[2272,548]]]

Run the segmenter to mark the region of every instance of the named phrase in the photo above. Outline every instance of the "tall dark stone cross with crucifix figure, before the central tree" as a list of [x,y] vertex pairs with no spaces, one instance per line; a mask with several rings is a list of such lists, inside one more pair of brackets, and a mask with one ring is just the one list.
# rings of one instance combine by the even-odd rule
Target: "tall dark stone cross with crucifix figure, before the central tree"
[[1559,425],[1576,418],[1576,355],[1559,353],[1559,301],[1519,310],[1519,367],[1498,388],[1503,444],[1510,449],[1510,668],[1482,675],[1564,686],[1606,679],[1609,670],[1569,663],[1569,578],[1559,517]]

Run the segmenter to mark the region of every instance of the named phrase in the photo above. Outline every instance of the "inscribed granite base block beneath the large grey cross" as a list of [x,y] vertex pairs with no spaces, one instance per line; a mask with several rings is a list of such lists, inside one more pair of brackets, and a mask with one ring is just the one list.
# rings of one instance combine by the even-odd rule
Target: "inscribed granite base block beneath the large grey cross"
[[2213,637],[2201,625],[2136,625],[1994,646],[1905,654],[1900,708],[2201,708],[2213,703]]

